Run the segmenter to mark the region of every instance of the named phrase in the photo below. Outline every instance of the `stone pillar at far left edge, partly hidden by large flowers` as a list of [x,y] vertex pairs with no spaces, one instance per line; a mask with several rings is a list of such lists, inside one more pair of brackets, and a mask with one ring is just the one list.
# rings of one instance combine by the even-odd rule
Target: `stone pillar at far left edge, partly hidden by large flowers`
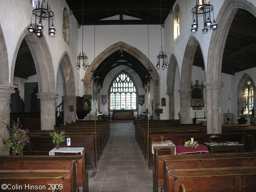
[[15,93],[14,86],[0,85],[0,155],[10,155],[10,149],[4,146],[2,139],[9,137],[4,123],[10,125],[10,101],[12,93]]

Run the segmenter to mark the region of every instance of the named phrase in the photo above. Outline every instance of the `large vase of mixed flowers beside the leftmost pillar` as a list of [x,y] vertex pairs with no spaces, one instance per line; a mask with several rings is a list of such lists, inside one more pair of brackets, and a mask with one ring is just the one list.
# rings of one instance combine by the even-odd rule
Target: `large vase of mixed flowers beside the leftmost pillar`
[[12,126],[5,125],[9,132],[9,138],[2,139],[4,145],[12,148],[12,155],[23,155],[22,150],[29,143],[28,129],[23,129],[19,121],[17,123],[13,122]]

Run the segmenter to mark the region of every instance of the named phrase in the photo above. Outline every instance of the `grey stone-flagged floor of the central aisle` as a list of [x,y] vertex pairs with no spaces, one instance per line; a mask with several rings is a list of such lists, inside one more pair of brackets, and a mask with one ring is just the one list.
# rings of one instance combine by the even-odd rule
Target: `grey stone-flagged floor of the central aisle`
[[89,171],[89,192],[153,191],[152,171],[134,138],[133,123],[110,123],[110,139],[95,171],[94,177]]

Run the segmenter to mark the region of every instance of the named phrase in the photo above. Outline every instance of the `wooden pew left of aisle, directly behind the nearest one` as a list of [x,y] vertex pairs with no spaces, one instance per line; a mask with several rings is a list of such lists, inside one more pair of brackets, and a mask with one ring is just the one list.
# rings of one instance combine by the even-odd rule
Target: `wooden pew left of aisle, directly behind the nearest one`
[[89,191],[88,171],[83,155],[58,156],[0,156],[0,170],[69,170],[76,167],[76,186]]

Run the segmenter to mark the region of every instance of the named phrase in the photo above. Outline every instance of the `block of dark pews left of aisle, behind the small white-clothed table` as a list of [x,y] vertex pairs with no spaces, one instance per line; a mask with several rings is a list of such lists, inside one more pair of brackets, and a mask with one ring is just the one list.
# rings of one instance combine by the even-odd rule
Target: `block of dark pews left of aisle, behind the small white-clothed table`
[[[77,121],[60,126],[55,130],[65,131],[71,139],[71,147],[84,147],[87,169],[97,168],[110,136],[109,121]],[[49,132],[53,130],[31,130],[30,143],[23,150],[24,155],[49,155],[55,147]],[[62,142],[60,147],[67,147]]]

